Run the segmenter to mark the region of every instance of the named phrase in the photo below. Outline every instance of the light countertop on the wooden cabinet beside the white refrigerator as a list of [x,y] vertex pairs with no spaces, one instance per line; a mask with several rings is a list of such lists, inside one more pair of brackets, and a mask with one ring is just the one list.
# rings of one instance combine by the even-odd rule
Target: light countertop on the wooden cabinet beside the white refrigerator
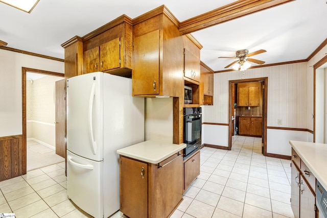
[[136,160],[157,164],[184,148],[186,148],[184,143],[172,144],[148,140],[120,149],[117,153]]

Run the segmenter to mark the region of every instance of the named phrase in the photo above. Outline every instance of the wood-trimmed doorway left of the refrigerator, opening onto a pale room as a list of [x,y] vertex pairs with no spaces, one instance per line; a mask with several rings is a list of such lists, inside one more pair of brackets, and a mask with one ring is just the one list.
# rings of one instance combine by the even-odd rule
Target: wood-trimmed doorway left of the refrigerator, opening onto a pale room
[[[59,77],[59,78],[55,78],[55,77],[44,77],[41,79],[35,79],[33,80],[27,80],[28,75],[29,74],[33,74],[34,76],[55,76],[55,77]],[[22,141],[23,141],[23,159],[25,164],[25,171],[27,171],[27,169],[31,170],[33,167],[37,167],[37,166],[45,166],[45,165],[49,165],[47,163],[51,163],[50,158],[53,158],[52,161],[64,161],[64,158],[59,157],[58,155],[55,154],[54,152],[54,147],[53,146],[56,142],[54,142],[55,139],[53,139],[53,135],[56,135],[56,133],[54,133],[53,129],[54,126],[56,124],[53,124],[53,122],[43,122],[44,117],[49,116],[50,113],[52,113],[51,111],[54,110],[55,107],[55,95],[54,95],[54,80],[62,80],[64,77],[64,74],[60,74],[57,72],[51,72],[51,71],[45,71],[45,70],[39,70],[39,69],[32,69],[32,68],[26,68],[26,67],[22,67]],[[40,85],[42,83],[46,83],[48,82],[48,86],[46,87],[46,85]],[[51,83],[51,84],[50,84]],[[34,97],[36,100],[31,100],[30,98],[32,98],[31,96],[28,98],[28,93],[32,90],[33,86],[37,89],[41,88],[41,90],[38,91],[37,94],[34,93]],[[53,96],[49,96],[53,95]],[[53,94],[51,94],[53,93]],[[31,116],[32,111],[29,111],[31,109],[31,102],[34,105],[39,105],[39,104],[43,104],[43,107],[34,107],[37,108],[34,110],[34,116]],[[51,105],[51,106],[48,106]],[[42,112],[40,111],[40,108],[44,109]],[[53,115],[52,115],[53,116]],[[43,119],[42,119],[43,117]],[[46,119],[46,118],[45,118]],[[52,118],[51,118],[52,120]],[[31,132],[27,132],[27,127],[32,127],[32,132],[38,132],[37,134],[30,134]],[[29,133],[29,134],[28,134]],[[50,133],[49,135],[47,135],[48,133]],[[35,138],[34,138],[35,137]],[[27,139],[31,138],[33,139],[33,141],[29,141],[29,147],[27,146]],[[49,139],[50,138],[50,139]],[[48,140],[50,140],[51,142],[49,142]],[[31,142],[31,143],[30,143]],[[30,154],[30,158],[29,158],[29,166],[27,158],[28,158],[28,153]],[[34,157],[40,157],[40,158],[36,158],[39,159],[40,162],[39,163],[35,163],[35,161],[31,162],[30,160],[34,159],[31,157],[33,157],[33,155],[36,155]],[[39,155],[39,156],[38,156]],[[49,156],[49,158],[43,158]],[[50,162],[49,162],[50,161]],[[31,168],[32,167],[32,168]],[[33,169],[34,169],[33,168]],[[37,167],[38,168],[38,167]]]

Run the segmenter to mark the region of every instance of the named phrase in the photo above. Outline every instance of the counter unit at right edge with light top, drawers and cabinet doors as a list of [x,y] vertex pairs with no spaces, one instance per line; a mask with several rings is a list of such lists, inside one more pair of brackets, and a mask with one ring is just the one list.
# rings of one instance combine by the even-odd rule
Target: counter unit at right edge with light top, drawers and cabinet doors
[[291,207],[294,217],[314,218],[319,212],[316,207],[316,192],[321,190],[320,187],[316,190],[316,184],[319,181],[324,189],[327,188],[327,144],[292,140],[290,144]]

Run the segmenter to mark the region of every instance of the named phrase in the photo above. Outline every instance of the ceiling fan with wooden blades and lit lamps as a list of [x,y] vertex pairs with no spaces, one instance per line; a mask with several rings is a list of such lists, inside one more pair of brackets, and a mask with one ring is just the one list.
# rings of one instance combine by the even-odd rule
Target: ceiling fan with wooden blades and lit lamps
[[219,58],[238,58],[238,60],[233,61],[232,63],[225,66],[225,68],[228,68],[233,65],[233,69],[243,71],[251,66],[251,64],[249,62],[253,62],[256,64],[264,64],[265,61],[249,58],[251,56],[258,55],[258,54],[261,54],[264,52],[267,52],[267,51],[261,49],[261,50],[249,53],[249,51],[247,49],[242,49],[242,50],[239,50],[236,52],[236,57],[219,57]]

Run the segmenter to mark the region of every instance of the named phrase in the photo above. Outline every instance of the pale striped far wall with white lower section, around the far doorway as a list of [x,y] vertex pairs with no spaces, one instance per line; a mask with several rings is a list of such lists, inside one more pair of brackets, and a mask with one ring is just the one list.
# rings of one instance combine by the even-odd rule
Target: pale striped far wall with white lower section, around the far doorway
[[[202,122],[228,124],[228,96],[229,81],[249,78],[268,77],[268,108],[267,126],[307,129],[308,127],[308,63],[294,63],[279,66],[254,68],[245,71],[223,72],[214,75],[214,106],[202,106]],[[277,120],[282,119],[282,125]],[[203,129],[207,129],[204,125]],[[213,125],[211,125],[213,126]],[[209,127],[211,131],[215,128],[215,135],[204,133],[203,143],[217,142],[219,146],[225,144],[228,137],[228,127]],[[268,134],[268,131],[267,131]],[[282,134],[284,141],[293,138],[292,131],[270,131],[267,135],[267,152],[273,154],[291,155],[288,143],[276,146],[275,139]],[[308,139],[308,133],[300,131],[300,138]],[[227,136],[226,136],[227,135]],[[221,139],[218,139],[221,138]],[[222,144],[219,144],[220,143]],[[223,141],[221,141],[223,140]],[[215,144],[215,143],[211,143]]]

